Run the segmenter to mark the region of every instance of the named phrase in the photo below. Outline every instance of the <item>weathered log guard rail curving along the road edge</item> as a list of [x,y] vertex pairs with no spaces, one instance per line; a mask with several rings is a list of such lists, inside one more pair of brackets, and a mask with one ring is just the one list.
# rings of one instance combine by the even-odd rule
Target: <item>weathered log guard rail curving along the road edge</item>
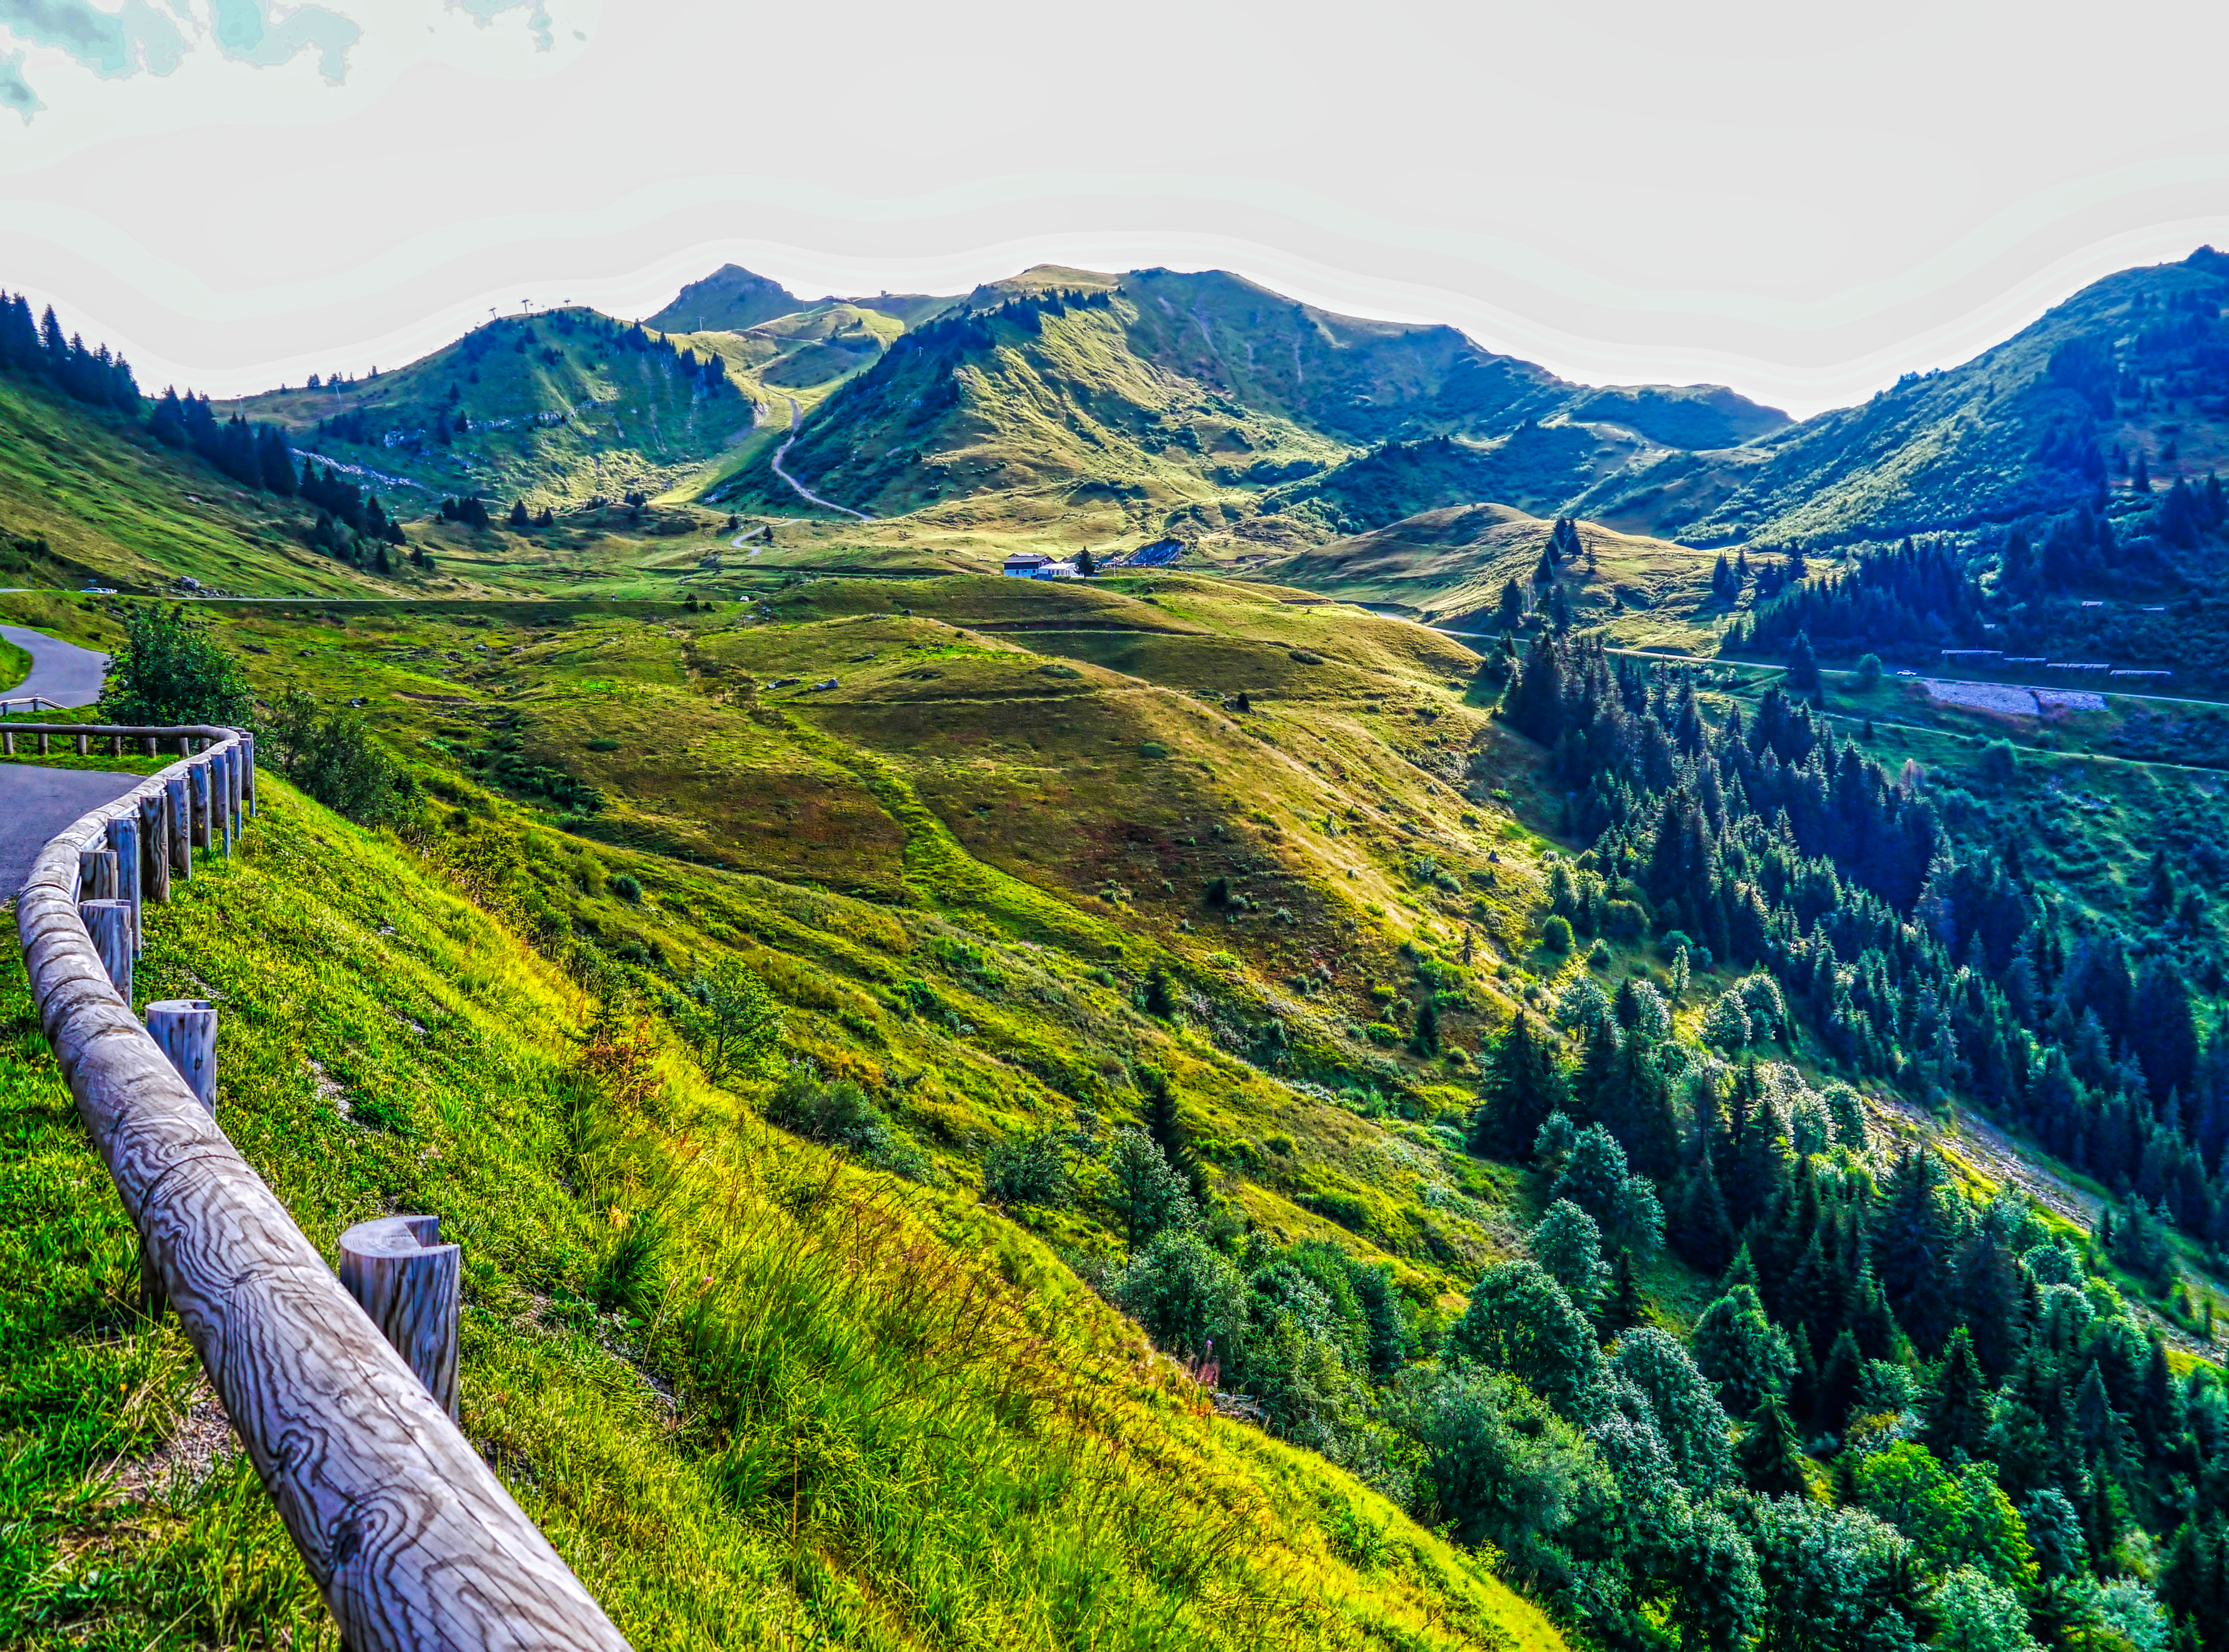
[[[145,1275],[176,1309],[343,1643],[624,1652],[611,1619],[138,1023],[78,916],[87,849],[123,836],[145,863],[132,887],[163,901],[169,872],[192,876],[187,836],[230,847],[239,814],[254,812],[252,738],[203,725],[13,733],[194,751],[51,838],[16,901],[16,930],[40,1023],[138,1226]],[[125,823],[143,829],[111,829]],[[138,925],[129,930],[136,939]]]

